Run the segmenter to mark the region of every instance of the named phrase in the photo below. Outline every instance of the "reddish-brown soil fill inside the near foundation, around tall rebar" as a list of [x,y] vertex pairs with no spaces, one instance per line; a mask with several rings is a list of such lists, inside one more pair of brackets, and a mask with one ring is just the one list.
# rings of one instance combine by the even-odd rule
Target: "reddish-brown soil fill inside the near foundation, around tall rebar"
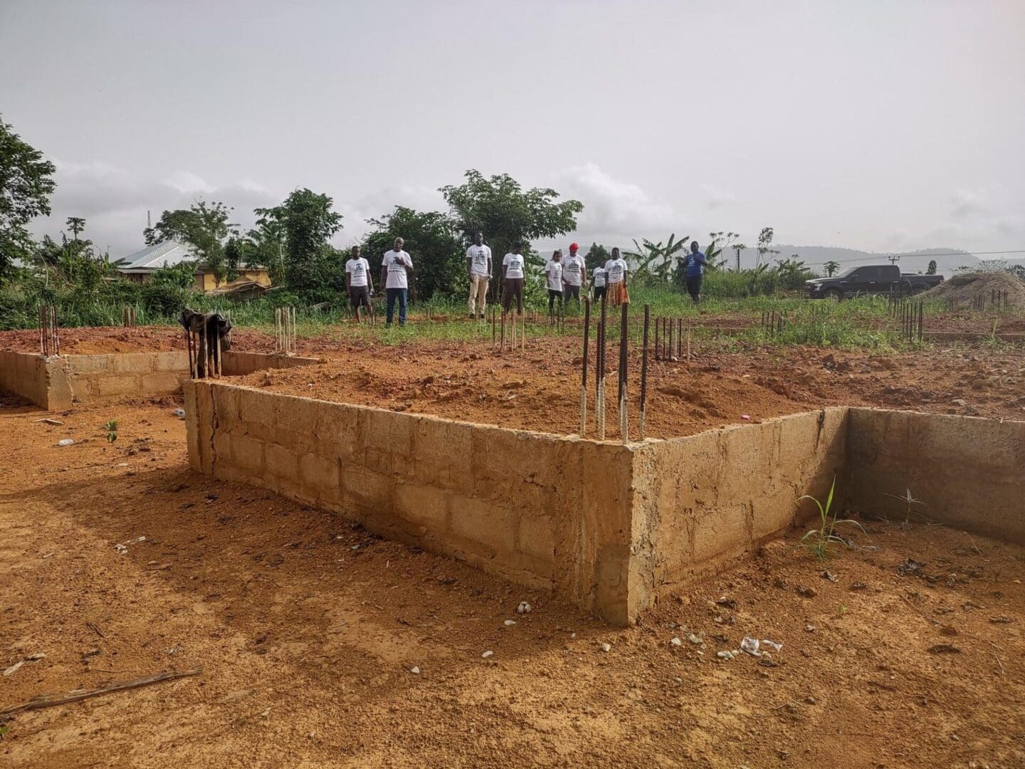
[[[544,338],[526,353],[488,342],[336,348],[318,366],[260,371],[233,383],[321,400],[428,413],[518,430],[570,434],[580,423],[577,340]],[[606,437],[619,437],[616,347],[607,353]],[[593,350],[590,352],[593,361]],[[670,438],[822,406],[1025,419],[1025,356],[928,351],[880,356],[814,348],[705,353],[691,363],[650,361],[647,436]],[[627,387],[637,438],[640,368]],[[588,372],[588,436],[596,437],[594,369]],[[745,419],[745,415],[748,417]]]

